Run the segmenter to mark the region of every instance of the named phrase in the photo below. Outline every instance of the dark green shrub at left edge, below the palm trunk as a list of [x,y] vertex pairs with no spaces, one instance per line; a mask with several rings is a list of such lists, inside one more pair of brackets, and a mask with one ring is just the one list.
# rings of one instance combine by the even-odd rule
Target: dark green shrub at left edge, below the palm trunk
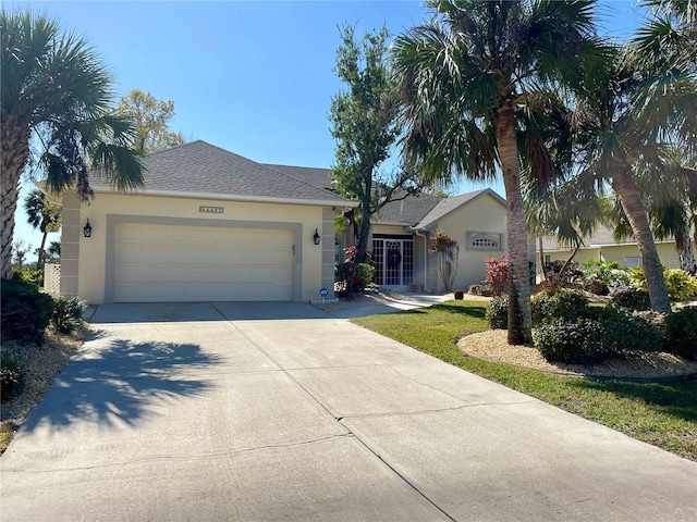
[[53,299],[17,277],[2,279],[1,284],[2,339],[40,344],[53,312]]

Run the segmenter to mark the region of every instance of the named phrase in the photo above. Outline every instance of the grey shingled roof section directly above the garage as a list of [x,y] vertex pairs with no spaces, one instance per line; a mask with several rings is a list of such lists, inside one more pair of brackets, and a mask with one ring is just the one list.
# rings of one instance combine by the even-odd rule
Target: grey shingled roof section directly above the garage
[[[201,140],[152,152],[143,163],[146,195],[356,206],[329,190]],[[90,173],[90,185],[95,190],[111,189],[107,178],[95,172]]]

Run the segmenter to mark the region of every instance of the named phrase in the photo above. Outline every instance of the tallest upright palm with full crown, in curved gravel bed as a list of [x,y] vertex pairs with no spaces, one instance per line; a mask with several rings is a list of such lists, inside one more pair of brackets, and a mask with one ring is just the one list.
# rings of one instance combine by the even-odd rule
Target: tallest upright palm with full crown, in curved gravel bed
[[435,179],[503,175],[510,256],[511,344],[531,343],[530,284],[521,157],[553,175],[545,142],[530,127],[516,142],[521,109],[539,86],[580,82],[600,58],[592,0],[430,0],[430,23],[396,38],[394,69],[403,86],[405,161]]

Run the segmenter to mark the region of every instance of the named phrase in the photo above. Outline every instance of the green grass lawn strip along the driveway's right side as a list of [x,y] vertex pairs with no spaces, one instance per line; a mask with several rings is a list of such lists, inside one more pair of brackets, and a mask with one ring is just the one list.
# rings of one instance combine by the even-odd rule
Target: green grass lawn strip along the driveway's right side
[[481,301],[449,301],[352,321],[450,364],[697,461],[697,380],[601,382],[466,357],[455,343],[465,335],[489,330],[485,307]]

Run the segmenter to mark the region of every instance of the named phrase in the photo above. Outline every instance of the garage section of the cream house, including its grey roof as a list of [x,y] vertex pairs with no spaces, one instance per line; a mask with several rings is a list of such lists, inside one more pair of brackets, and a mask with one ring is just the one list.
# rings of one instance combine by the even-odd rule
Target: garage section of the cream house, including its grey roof
[[90,203],[63,196],[61,294],[307,302],[331,291],[334,214],[356,203],[200,140],[144,163],[143,190],[119,192],[90,173]]

